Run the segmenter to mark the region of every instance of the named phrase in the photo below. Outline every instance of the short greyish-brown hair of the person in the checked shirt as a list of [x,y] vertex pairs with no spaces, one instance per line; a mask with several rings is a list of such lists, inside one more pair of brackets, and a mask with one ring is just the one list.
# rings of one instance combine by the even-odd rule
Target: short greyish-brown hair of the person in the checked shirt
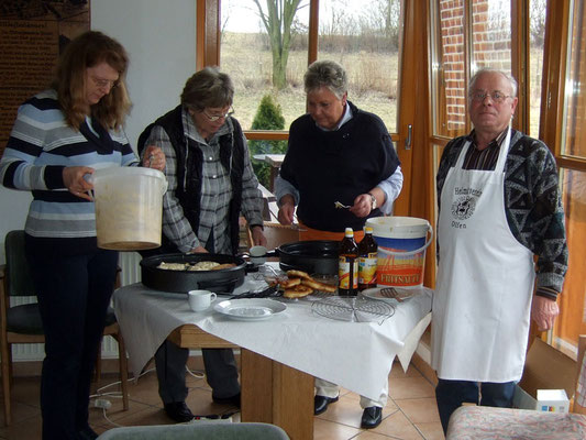
[[204,67],[194,74],[181,92],[181,105],[196,111],[232,106],[233,99],[234,84],[218,67]]

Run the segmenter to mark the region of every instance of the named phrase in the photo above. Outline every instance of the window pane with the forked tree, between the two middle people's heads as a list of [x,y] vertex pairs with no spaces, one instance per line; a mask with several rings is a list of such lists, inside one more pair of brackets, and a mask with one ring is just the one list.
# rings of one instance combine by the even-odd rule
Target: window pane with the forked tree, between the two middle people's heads
[[[288,1],[291,3],[291,1]],[[291,43],[287,54],[284,84],[275,85],[277,64],[272,56],[272,44],[267,30],[261,20],[261,12],[253,0],[221,1],[221,52],[220,65],[235,86],[234,114],[244,130],[252,129],[254,117],[264,96],[270,95],[280,106],[285,123],[280,130],[288,130],[290,123],[306,112],[303,73],[307,68],[309,1],[301,0],[291,23]],[[267,14],[266,2],[259,1]],[[279,33],[281,35],[281,33]],[[275,41],[274,44],[278,44]],[[285,59],[285,58],[283,58]],[[279,130],[277,127],[259,129]]]

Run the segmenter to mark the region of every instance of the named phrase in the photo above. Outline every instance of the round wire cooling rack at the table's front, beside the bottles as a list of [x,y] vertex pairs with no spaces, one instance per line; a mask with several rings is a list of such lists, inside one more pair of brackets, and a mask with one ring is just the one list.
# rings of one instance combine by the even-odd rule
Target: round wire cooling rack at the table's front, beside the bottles
[[361,297],[330,296],[314,301],[311,310],[325,318],[347,322],[378,322],[395,315],[395,306]]

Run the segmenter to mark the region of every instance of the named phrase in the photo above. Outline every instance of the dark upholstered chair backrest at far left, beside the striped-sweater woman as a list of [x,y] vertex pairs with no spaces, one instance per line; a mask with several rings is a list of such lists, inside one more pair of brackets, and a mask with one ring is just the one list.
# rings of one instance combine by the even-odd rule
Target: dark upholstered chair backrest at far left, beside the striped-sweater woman
[[24,231],[10,231],[4,241],[5,274],[10,296],[34,296],[33,277],[24,254]]

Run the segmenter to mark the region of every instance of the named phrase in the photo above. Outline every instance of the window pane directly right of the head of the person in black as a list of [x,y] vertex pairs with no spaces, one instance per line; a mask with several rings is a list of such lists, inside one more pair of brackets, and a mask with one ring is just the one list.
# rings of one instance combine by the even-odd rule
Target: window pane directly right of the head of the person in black
[[397,131],[401,0],[320,0],[318,58],[347,72],[349,99]]

